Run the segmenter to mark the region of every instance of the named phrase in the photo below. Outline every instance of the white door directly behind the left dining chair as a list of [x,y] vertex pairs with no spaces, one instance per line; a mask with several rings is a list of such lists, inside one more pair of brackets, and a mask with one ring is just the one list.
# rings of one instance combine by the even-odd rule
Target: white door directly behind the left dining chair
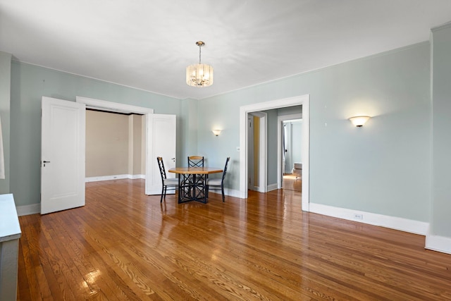
[[[146,159],[146,195],[161,194],[161,176],[156,157],[163,158],[166,176],[175,178],[175,173],[168,173],[175,167],[175,115],[147,114],[147,159]],[[174,193],[173,190],[168,193]]]

